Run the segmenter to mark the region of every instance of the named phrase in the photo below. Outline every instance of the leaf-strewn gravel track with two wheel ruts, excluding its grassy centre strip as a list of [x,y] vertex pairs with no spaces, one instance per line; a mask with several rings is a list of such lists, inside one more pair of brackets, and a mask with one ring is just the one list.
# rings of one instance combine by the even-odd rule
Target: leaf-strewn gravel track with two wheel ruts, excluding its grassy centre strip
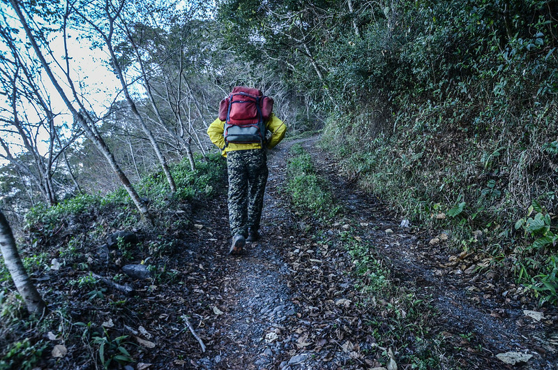
[[[188,316],[206,351],[177,325],[165,339],[166,360],[160,365],[374,369],[389,364],[388,351],[393,349],[399,369],[411,369],[414,355],[428,368],[428,353],[442,369],[557,369],[555,311],[543,312],[541,320],[526,316],[524,310],[537,309],[520,287],[497,271],[479,270],[485,261],[478,256],[448,255],[444,237],[431,244],[439,235],[402,227],[389,207],[348,182],[316,141],[296,142],[329,180],[335,202],[342,205],[338,219],[324,223],[289,208],[283,186],[294,141],[282,142],[270,153],[262,239],[247,244],[242,256],[227,256],[225,195],[198,209],[196,227],[185,240],[188,251],[179,257],[184,266],[183,309],[166,320],[179,322]],[[418,338],[416,330],[399,330],[408,335],[405,343],[411,344],[406,348],[398,348],[395,340],[393,348],[386,344],[389,333],[400,329],[394,325],[405,320],[368,303],[375,297],[359,288],[352,258],[338,242],[349,229],[375,246],[375,257],[389,268],[394,285],[426,302],[428,311],[414,316],[423,320],[425,338],[442,343],[436,353],[423,348],[421,343],[428,342]],[[390,302],[384,303],[389,307]],[[515,366],[496,357],[511,351],[532,357]],[[169,359],[174,359],[171,364]]]

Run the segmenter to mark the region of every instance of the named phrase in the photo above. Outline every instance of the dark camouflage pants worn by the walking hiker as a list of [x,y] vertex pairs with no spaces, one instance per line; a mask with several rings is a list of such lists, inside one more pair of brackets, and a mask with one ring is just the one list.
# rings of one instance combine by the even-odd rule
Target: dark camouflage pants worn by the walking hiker
[[248,236],[248,228],[258,230],[267,182],[266,151],[262,149],[227,152],[229,173],[229,224],[232,235]]

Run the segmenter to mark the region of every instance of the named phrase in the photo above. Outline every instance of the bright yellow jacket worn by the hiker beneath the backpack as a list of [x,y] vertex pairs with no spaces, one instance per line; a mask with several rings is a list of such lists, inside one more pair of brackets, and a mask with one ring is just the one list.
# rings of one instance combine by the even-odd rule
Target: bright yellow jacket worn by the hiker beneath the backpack
[[[271,113],[271,117],[269,117],[266,122],[266,128],[271,131],[271,137],[267,140],[266,147],[271,149],[278,145],[283,138],[285,138],[287,126],[285,126],[283,121],[278,119],[275,114]],[[235,144],[234,142],[231,142],[225,147],[225,137],[223,136],[224,132],[225,121],[221,121],[220,119],[213,121],[209,125],[209,128],[207,128],[207,135],[209,135],[211,142],[221,149],[221,154],[225,157],[227,156],[227,151],[262,148],[262,145],[257,142],[250,144]]]

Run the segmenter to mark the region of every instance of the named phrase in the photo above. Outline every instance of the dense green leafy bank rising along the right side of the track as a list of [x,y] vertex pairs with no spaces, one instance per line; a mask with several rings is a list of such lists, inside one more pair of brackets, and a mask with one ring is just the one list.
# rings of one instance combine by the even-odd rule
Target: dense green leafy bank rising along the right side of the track
[[220,13],[240,52],[322,102],[350,176],[552,300],[556,14],[532,0],[235,0]]

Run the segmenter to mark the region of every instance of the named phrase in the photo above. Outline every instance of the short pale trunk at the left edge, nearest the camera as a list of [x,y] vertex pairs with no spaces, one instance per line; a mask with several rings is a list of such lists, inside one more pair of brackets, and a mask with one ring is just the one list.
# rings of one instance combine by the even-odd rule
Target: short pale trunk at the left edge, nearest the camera
[[37,291],[37,288],[33,285],[29,275],[23,267],[23,262],[20,258],[20,253],[17,252],[17,246],[15,245],[15,239],[13,237],[12,229],[8,224],[8,220],[4,214],[0,211],[0,251],[4,258],[4,264],[12,276],[13,283],[17,292],[22,296],[25,306],[27,306],[27,311],[29,313],[35,313],[40,315],[45,311],[46,304],[43,298]]

